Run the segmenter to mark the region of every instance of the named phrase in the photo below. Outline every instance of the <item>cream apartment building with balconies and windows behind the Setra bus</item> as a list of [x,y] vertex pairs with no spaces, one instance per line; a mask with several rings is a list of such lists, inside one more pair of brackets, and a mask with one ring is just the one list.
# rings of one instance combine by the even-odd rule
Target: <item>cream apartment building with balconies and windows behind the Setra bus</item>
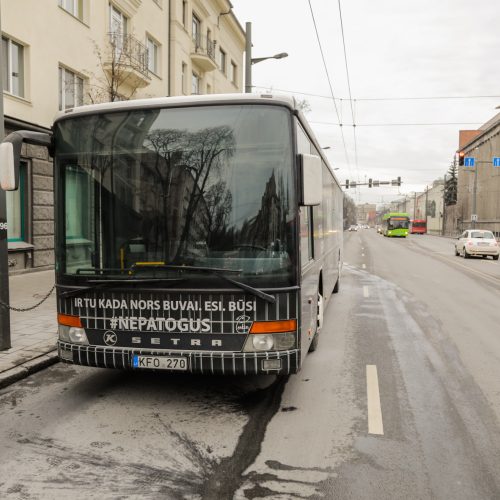
[[[6,134],[122,99],[242,92],[245,33],[228,0],[2,0]],[[54,263],[52,162],[25,146],[7,194],[11,271]]]

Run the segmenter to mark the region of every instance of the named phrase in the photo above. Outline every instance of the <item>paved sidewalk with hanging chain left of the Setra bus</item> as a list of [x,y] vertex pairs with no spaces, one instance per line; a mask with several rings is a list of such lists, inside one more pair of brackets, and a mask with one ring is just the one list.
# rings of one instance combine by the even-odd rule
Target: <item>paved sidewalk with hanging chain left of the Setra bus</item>
[[[10,305],[26,308],[39,302],[54,285],[54,271],[9,278]],[[2,307],[2,306],[0,306]],[[2,310],[4,313],[5,309]],[[56,294],[27,312],[10,312],[10,349],[0,351],[0,388],[57,361]]]

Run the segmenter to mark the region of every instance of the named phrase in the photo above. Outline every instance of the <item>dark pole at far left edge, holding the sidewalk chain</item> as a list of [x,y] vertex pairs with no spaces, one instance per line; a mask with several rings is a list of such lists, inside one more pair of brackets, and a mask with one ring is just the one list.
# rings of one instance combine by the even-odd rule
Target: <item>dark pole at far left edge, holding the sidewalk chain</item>
[[[0,7],[0,32],[2,31]],[[3,68],[3,51],[0,51],[0,68]],[[0,79],[0,140],[5,135],[3,116],[3,83]],[[7,193],[0,188],[0,301],[9,303],[9,253],[7,248]],[[0,305],[0,351],[10,349],[10,311]]]

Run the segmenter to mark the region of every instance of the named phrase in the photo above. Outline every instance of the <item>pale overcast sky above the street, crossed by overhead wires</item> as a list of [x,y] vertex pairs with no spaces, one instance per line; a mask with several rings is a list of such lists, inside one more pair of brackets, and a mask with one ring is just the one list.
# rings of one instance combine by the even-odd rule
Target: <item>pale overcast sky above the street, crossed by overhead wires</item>
[[[476,129],[498,112],[498,0],[341,0],[356,100],[352,110],[338,0],[231,1],[242,26],[252,23],[253,57],[289,54],[253,65],[255,90],[286,90],[307,100],[311,109],[306,116],[320,144],[331,148],[326,153],[339,168],[338,178],[401,176],[399,192],[396,187],[349,190],[356,202],[387,203],[400,198],[399,193],[423,191],[446,173],[458,147],[458,131]],[[336,101],[342,128],[328,98],[332,93],[310,5],[333,95],[342,99]],[[394,100],[408,97],[460,99]],[[365,100],[382,98],[391,100]],[[380,126],[390,123],[462,125]]]

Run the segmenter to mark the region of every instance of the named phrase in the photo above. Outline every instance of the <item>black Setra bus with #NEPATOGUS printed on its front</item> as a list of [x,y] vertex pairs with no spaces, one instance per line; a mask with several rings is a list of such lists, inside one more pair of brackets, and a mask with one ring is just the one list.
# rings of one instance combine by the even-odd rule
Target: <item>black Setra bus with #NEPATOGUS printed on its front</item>
[[95,367],[296,373],[339,289],[342,192],[293,99],[82,106],[21,144],[54,158],[58,350]]

